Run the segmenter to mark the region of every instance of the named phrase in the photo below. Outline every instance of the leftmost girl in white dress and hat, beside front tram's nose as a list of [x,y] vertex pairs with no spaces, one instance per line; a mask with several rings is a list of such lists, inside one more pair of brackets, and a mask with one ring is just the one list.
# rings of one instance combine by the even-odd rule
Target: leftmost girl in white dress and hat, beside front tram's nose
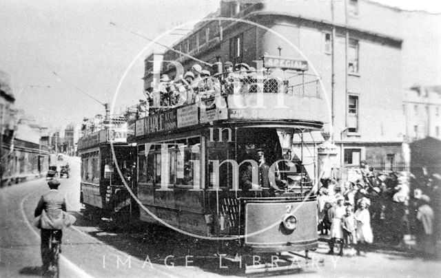
[[342,218],[346,214],[345,198],[340,196],[336,200],[337,205],[328,211],[329,220],[331,220],[331,239],[329,241],[329,254],[334,254],[334,244],[340,243],[340,250],[343,248],[343,228]]

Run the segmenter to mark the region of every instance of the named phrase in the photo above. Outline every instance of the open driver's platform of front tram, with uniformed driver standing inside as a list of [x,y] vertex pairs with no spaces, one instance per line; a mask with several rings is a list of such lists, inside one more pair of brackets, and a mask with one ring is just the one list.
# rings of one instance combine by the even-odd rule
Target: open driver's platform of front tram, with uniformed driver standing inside
[[[257,164],[252,180],[252,162],[244,162],[240,166],[241,189],[269,188],[271,191],[305,192],[314,182],[314,154],[301,140],[300,131],[295,129],[275,128],[244,128],[237,133],[238,163],[254,160]],[[308,151],[305,151],[307,149]],[[305,163],[307,162],[307,163]],[[256,182],[258,184],[256,184]]]

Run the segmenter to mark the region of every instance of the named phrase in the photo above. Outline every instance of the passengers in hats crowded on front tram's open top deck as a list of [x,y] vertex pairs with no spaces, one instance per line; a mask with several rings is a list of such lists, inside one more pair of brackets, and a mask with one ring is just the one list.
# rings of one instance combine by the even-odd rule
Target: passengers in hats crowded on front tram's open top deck
[[[247,92],[258,92],[258,87],[261,87],[263,90],[263,81],[258,82],[256,79],[258,71],[246,63],[233,65],[232,62],[227,61],[223,66],[215,63],[212,72],[203,69],[199,64],[194,64],[188,72],[176,76],[174,80],[167,74],[161,74],[158,88],[149,88],[145,91],[147,104],[149,107],[154,107],[153,111],[162,111],[167,107],[197,103],[221,94],[242,92],[244,89]],[[260,74],[263,76],[263,72]],[[156,94],[158,97],[156,100],[154,92],[159,92]]]

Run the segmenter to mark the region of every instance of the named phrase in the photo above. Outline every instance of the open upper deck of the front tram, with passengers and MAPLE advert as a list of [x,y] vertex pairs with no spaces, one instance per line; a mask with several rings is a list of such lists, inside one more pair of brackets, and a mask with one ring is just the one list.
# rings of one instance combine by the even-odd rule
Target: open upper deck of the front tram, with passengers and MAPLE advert
[[150,95],[148,116],[130,125],[135,137],[223,124],[320,130],[327,121],[320,81],[304,72],[267,68],[207,76],[196,85],[160,82]]

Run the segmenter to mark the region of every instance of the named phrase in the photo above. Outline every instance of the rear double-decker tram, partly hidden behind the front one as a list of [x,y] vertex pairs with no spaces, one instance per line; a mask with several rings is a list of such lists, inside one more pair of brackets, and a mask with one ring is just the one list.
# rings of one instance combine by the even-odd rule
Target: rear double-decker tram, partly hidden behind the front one
[[[111,122],[111,124],[109,124]],[[81,156],[80,202],[90,215],[112,218],[130,217],[132,202],[123,178],[133,188],[135,148],[127,144],[125,118],[107,120],[101,130],[85,128],[79,139]],[[114,155],[112,154],[112,146]],[[116,159],[115,159],[116,158]]]

